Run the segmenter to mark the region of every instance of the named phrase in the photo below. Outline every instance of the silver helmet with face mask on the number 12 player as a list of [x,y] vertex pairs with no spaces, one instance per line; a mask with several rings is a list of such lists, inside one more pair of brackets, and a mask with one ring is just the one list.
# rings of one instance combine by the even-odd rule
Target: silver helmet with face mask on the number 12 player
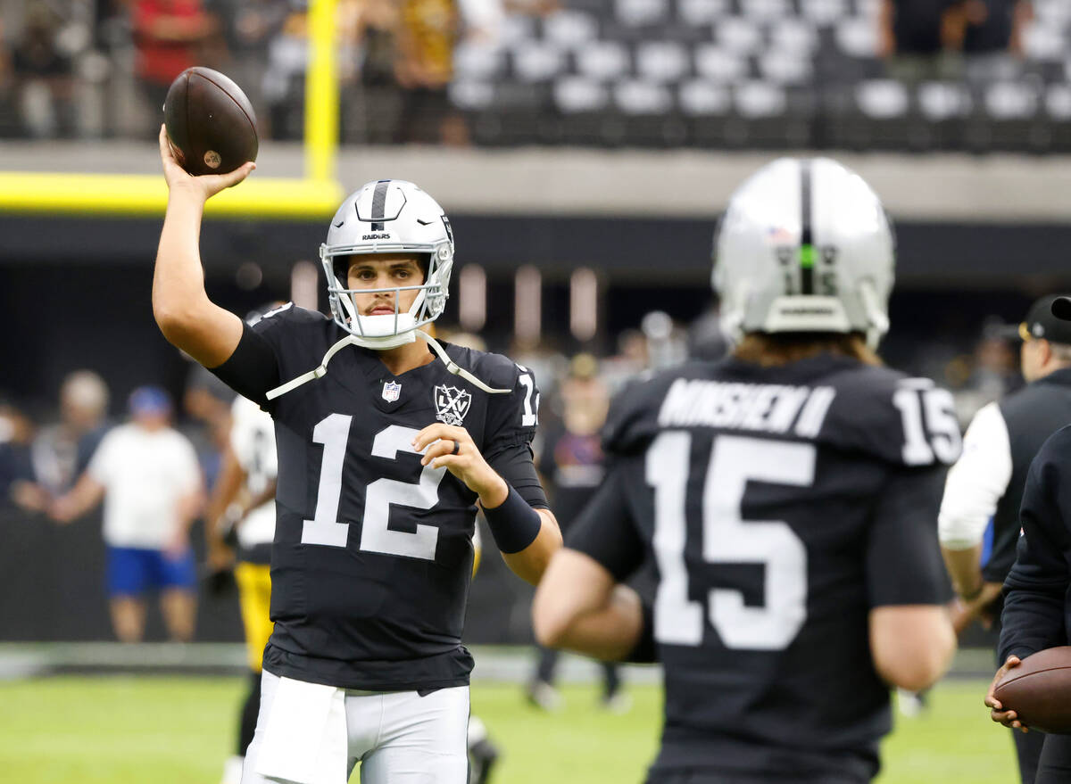
[[[417,253],[427,260],[420,286],[389,289],[347,288],[348,257],[373,253]],[[328,301],[335,323],[349,332],[352,343],[388,349],[417,340],[416,330],[442,315],[449,297],[454,262],[454,236],[442,208],[405,180],[365,183],[342,202],[327,241],[320,245],[320,262],[328,281]],[[399,293],[419,290],[412,306],[398,312]],[[394,292],[394,315],[362,316],[356,293]]]

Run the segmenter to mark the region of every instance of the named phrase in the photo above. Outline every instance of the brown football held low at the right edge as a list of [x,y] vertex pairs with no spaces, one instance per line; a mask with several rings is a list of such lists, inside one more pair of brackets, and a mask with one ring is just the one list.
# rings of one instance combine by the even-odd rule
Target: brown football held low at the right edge
[[1071,646],[1027,657],[1005,675],[993,695],[1030,729],[1071,734]]

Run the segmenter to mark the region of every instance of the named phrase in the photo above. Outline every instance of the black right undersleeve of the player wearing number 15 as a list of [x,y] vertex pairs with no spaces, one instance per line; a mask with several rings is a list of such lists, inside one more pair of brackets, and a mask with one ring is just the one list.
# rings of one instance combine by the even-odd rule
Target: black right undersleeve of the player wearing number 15
[[952,598],[937,542],[945,468],[897,469],[877,499],[866,543],[871,607],[944,604]]

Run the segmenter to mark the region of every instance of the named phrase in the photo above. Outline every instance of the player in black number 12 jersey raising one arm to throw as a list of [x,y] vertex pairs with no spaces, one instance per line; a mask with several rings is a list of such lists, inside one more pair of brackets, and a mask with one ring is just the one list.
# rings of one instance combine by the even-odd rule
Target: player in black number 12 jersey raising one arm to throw
[[191,177],[160,139],[156,321],[275,420],[275,625],[243,782],[341,784],[360,760],[366,784],[463,784],[477,502],[529,582],[561,543],[529,446],[534,379],[420,330],[446,305],[454,242],[408,182],[371,182],[332,220],[332,318],[287,304],[248,327],[214,305],[201,211],[253,166]]

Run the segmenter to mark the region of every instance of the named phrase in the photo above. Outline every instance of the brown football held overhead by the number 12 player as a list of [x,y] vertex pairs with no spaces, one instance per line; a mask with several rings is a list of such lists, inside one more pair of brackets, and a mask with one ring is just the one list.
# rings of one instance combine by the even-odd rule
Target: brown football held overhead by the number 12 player
[[186,69],[167,90],[164,124],[191,175],[223,175],[257,160],[257,117],[242,89],[212,69]]

